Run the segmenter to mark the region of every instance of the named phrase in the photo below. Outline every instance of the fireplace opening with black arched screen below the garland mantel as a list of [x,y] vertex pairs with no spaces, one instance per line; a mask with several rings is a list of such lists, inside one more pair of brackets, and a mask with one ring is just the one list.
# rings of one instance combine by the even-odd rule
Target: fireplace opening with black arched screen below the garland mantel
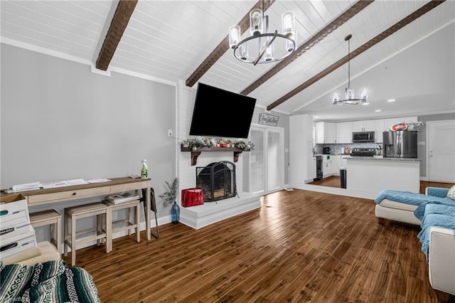
[[220,161],[196,167],[196,186],[203,188],[204,202],[218,201],[237,195],[235,164]]

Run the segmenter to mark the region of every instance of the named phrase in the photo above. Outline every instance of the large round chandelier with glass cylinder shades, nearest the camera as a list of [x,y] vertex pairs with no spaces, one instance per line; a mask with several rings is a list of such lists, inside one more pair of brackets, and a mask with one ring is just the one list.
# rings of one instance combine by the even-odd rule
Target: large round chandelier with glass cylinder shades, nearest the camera
[[[297,45],[297,33],[295,26],[295,15],[293,11],[286,11],[282,14],[282,33],[277,30],[269,33],[269,16],[264,16],[264,0],[262,9],[252,9],[250,11],[250,33],[251,36],[240,41],[242,33],[240,26],[233,25],[229,28],[229,47],[234,50],[235,58],[245,63],[272,63],[283,60],[290,55]],[[284,51],[279,52],[274,48],[274,41],[283,41]],[[250,46],[257,45],[257,55],[250,57],[248,49]]]

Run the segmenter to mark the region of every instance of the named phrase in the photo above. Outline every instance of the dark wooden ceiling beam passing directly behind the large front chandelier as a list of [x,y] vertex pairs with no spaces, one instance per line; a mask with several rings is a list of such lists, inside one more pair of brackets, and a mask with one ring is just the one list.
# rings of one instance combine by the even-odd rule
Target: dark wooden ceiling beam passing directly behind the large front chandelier
[[[264,9],[263,11],[267,11],[270,6],[274,3],[275,0],[265,0],[264,1]],[[253,6],[252,9],[262,9],[262,0],[259,0],[256,2],[255,6]],[[247,12],[247,14],[242,18],[242,20],[237,24],[240,26],[240,34],[242,35],[247,31],[248,28],[250,28],[250,11]],[[228,32],[228,28],[226,28],[226,32]],[[218,46],[215,47],[215,49],[208,55],[205,60],[203,60],[202,63],[196,68],[196,70],[191,74],[191,76],[186,79],[186,86],[192,87],[193,85],[198,82],[198,80],[208,71],[209,68],[212,67],[216,63],[216,61],[221,58],[222,55],[226,51],[229,50],[229,34],[225,36],[223,41],[218,44]]]

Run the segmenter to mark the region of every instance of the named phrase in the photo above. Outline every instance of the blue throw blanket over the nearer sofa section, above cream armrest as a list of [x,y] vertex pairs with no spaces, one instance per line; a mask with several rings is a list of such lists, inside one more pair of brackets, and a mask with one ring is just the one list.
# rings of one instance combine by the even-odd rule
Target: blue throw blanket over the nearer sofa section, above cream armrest
[[424,252],[428,261],[429,250],[429,229],[432,227],[449,228],[455,233],[455,203],[452,206],[444,204],[427,204],[425,215],[422,220],[422,230],[417,238],[422,243],[422,252]]

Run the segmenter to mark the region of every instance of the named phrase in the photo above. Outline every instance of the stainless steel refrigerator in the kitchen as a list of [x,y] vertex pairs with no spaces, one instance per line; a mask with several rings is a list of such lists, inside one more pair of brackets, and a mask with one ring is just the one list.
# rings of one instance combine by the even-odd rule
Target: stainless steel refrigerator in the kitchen
[[383,155],[390,158],[417,158],[417,134],[413,131],[383,132]]

